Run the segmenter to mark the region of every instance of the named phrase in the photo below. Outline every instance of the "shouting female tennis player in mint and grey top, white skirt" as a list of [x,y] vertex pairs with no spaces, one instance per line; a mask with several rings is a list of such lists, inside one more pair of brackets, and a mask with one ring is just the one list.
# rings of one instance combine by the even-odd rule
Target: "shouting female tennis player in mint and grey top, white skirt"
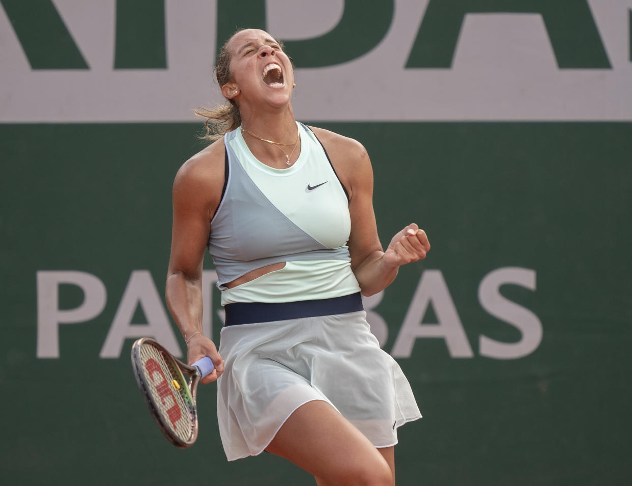
[[[218,380],[226,456],[268,451],[319,485],[394,484],[396,430],[421,415],[361,294],[425,258],[428,238],[408,224],[382,250],[366,150],[295,120],[293,66],[269,33],[236,32],[216,75],[228,103],[200,111],[217,140],[174,181],[166,297],[188,362],[216,367],[203,382]],[[226,310],[219,352],[202,335],[205,248]]]

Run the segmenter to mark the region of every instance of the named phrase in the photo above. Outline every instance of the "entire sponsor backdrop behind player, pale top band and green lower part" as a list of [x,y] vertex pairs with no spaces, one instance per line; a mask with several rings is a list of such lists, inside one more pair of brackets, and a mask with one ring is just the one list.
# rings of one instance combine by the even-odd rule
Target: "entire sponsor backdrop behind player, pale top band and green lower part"
[[[215,385],[197,443],[171,446],[130,365],[137,336],[185,349],[171,184],[203,147],[191,108],[219,99],[212,53],[246,25],[282,31],[298,118],[367,147],[382,243],[413,221],[432,243],[367,303],[424,415],[399,429],[398,485],[632,484],[632,1],[312,6],[0,0],[3,484],[313,483],[228,463]],[[507,271],[533,284],[490,291]],[[69,272],[103,305],[45,285]]]

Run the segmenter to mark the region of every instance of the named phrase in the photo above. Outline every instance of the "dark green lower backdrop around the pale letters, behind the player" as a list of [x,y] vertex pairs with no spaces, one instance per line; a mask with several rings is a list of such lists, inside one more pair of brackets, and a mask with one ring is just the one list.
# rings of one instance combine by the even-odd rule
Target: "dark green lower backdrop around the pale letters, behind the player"
[[[432,242],[428,258],[404,267],[376,309],[389,324],[384,348],[392,348],[422,271],[439,269],[475,353],[451,358],[442,339],[419,339],[399,360],[424,418],[399,429],[398,484],[629,484],[632,124],[317,125],[367,147],[382,243],[410,221]],[[138,393],[133,340],[119,359],[99,358],[131,271],[149,269],[162,294],[171,183],[201,149],[199,130],[0,125],[6,483],[312,483],[270,454],[227,463],[214,386],[199,391],[198,442],[175,449]],[[477,299],[482,277],[504,266],[537,272],[535,291],[502,288],[544,328],[538,349],[518,360],[478,355],[480,334],[520,339]],[[107,288],[99,317],[60,326],[59,359],[35,357],[38,270],[82,270]],[[60,307],[82,298],[62,286]],[[135,322],[144,322],[137,313]]]

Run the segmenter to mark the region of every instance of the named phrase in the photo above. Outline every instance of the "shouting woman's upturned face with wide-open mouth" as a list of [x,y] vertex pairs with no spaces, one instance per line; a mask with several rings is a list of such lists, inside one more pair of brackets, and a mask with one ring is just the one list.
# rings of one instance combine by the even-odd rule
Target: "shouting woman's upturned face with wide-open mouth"
[[[291,98],[294,72],[292,63],[276,40],[263,30],[248,29],[229,41],[231,81],[222,93],[240,104],[267,101],[275,106]],[[232,95],[238,90],[237,95]],[[228,96],[227,96],[228,94]]]

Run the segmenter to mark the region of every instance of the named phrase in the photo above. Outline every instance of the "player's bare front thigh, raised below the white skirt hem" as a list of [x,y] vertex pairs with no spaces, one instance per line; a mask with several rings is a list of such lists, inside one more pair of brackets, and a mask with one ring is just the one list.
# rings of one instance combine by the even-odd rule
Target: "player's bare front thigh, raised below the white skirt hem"
[[319,484],[393,484],[379,449],[325,401],[295,410],[265,450],[289,459]]

